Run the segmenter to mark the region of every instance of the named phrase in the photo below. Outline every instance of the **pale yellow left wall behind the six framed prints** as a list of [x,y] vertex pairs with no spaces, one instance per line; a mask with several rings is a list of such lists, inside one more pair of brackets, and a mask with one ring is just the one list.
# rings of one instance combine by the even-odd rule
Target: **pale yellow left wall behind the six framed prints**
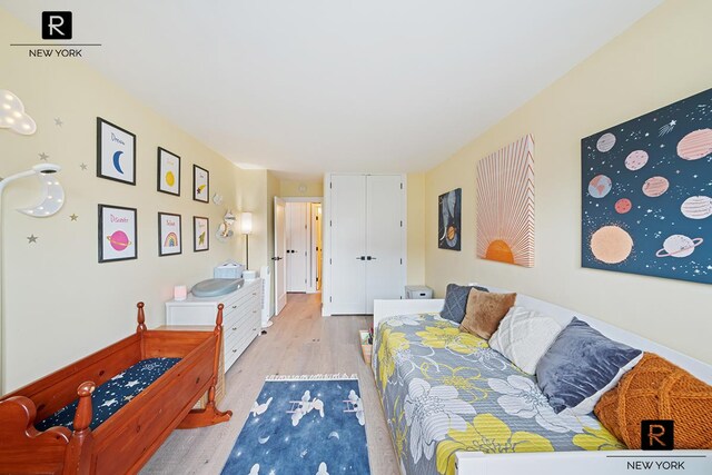
[[[21,48],[7,48],[36,36],[0,9],[0,88],[17,93],[38,125],[29,137],[0,130],[0,176],[30,168],[46,152],[62,167],[57,178],[67,197],[59,214],[43,219],[14,211],[37,202],[32,178],[10,185],[2,199],[6,389],[132,333],[138,300],[146,303],[149,327],[164,324],[175,285],[191,286],[211,277],[221,260],[243,255],[241,239],[221,244],[214,236],[209,251],[194,253],[192,216],[209,217],[214,234],[228,208],[237,211],[249,200],[250,180],[236,177],[234,165],[82,62],[30,59]],[[136,186],[96,176],[97,116],[136,133]],[[181,157],[180,197],[156,191],[158,146]],[[192,164],[210,171],[211,192],[224,196],[222,206],[191,199]],[[137,260],[98,264],[97,204],[138,208]],[[182,216],[181,255],[158,257],[158,211]],[[28,244],[30,235],[37,244]]]

